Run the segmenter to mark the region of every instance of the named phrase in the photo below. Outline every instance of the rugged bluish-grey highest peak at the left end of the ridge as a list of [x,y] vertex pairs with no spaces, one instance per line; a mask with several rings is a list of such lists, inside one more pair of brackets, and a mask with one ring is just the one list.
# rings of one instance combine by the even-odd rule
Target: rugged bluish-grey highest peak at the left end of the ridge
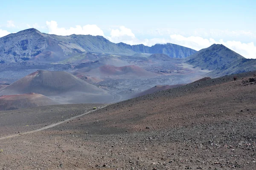
[[58,61],[67,54],[83,51],[78,45],[64,44],[42,34],[36,29],[27,29],[0,38],[0,61],[2,63],[36,61]]

